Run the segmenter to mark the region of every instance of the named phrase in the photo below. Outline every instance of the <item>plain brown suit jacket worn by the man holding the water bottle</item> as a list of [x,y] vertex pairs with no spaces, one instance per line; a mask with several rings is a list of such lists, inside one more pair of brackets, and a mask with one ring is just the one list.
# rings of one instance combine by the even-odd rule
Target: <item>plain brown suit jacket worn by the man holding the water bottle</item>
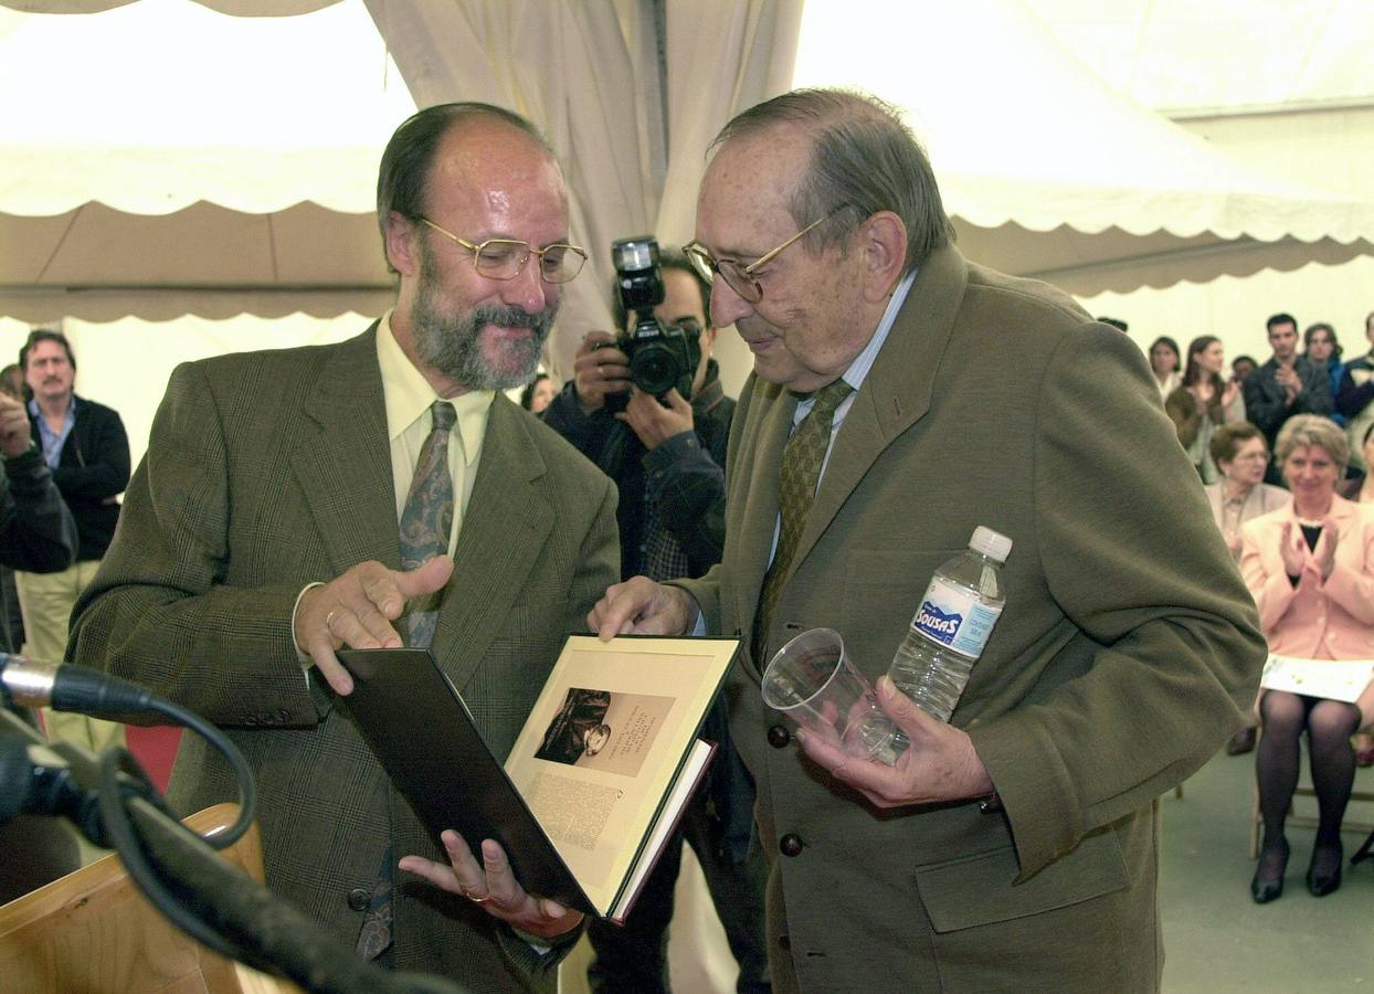
[[[754,378],[741,396],[724,560],[683,582],[713,631],[752,630],[796,403]],[[879,813],[780,734],[761,660],[732,678],[779,990],[1158,983],[1153,802],[1242,725],[1254,608],[1140,351],[951,247],[922,265],[835,437],[769,645],[833,627],[875,679],[980,524],[1015,543],[1010,598],[952,720],[1004,814]]]

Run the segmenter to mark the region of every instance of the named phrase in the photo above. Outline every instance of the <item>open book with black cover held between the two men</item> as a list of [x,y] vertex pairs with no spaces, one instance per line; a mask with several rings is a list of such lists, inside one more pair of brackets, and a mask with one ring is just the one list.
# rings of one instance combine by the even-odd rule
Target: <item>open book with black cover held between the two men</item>
[[434,836],[495,839],[530,894],[624,921],[714,752],[697,734],[738,648],[570,637],[504,766],[427,650],[338,657],[345,705]]

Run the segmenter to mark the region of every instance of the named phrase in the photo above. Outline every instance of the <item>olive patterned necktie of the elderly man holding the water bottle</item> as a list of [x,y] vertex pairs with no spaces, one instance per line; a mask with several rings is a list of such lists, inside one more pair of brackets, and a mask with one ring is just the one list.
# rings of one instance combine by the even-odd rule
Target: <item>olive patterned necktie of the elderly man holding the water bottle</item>
[[830,426],[835,411],[853,388],[844,379],[822,386],[815,393],[811,412],[797,425],[782,450],[782,463],[778,466],[778,514],[782,528],[778,533],[778,551],[764,577],[764,588],[758,598],[758,613],[754,617],[754,661],[760,668],[768,660],[763,654],[768,648],[768,626],[772,612],[782,594],[783,580],[797,553],[802,528],[811,514],[811,503],[816,498],[820,481],[820,466],[830,448]]

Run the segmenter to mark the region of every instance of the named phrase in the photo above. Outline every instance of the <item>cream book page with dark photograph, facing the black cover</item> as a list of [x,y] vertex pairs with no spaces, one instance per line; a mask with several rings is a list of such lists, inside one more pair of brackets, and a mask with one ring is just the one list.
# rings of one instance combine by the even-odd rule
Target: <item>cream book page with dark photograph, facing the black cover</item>
[[605,913],[724,681],[735,639],[569,638],[506,773]]

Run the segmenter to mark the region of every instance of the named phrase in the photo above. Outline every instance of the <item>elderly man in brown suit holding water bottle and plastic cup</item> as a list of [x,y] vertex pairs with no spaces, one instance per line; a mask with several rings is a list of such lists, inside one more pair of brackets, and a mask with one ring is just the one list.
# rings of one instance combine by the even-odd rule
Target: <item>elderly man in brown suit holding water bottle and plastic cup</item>
[[[1264,641],[1140,351],[966,261],[896,111],[786,93],[714,143],[688,256],[754,355],[701,580],[589,623],[728,632],[785,991],[1157,990],[1156,799],[1242,723]],[[988,525],[1006,609],[952,720],[883,674],[932,572]],[[841,632],[911,748],[800,733],[760,676]]]

